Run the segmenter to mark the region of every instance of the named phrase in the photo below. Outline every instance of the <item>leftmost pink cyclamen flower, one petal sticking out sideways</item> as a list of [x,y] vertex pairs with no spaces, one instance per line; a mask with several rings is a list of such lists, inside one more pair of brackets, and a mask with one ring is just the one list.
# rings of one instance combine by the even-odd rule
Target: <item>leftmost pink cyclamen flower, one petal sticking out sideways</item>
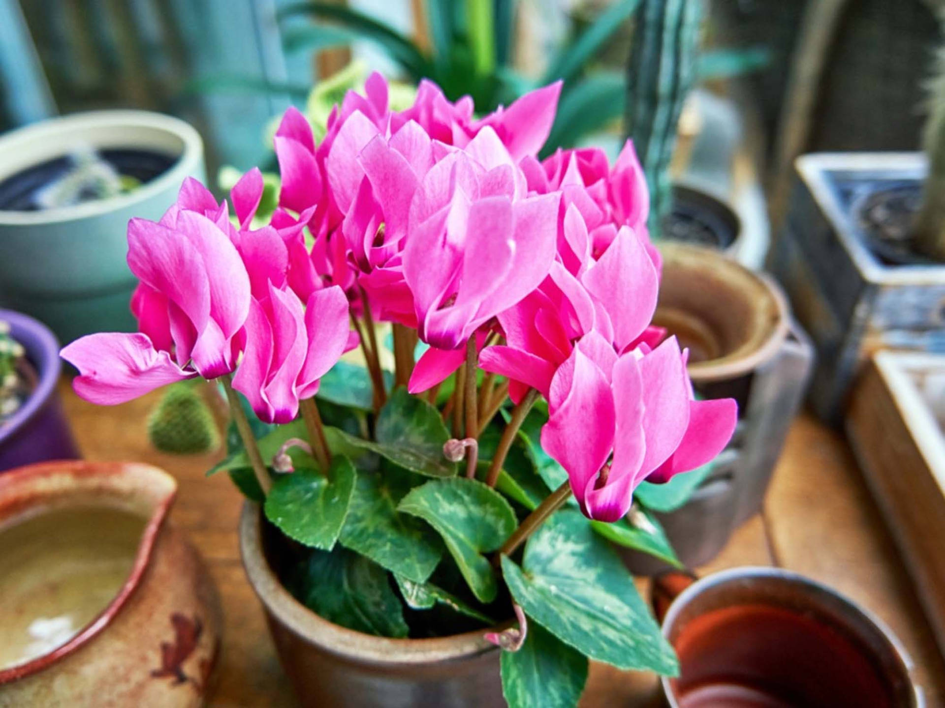
[[215,379],[235,368],[249,274],[228,233],[201,213],[211,208],[202,189],[185,181],[160,223],[129,223],[128,263],[141,281],[132,311],[141,332],[92,334],[62,349],[87,400],[123,403],[175,380]]

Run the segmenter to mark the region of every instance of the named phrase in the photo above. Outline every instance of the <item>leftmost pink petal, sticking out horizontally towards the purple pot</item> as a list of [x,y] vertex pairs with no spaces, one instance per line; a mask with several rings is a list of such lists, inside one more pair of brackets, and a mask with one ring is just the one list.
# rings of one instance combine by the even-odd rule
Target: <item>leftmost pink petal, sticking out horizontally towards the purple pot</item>
[[60,356],[78,369],[72,384],[78,396],[100,406],[125,403],[196,376],[181,369],[166,351],[155,349],[141,333],[90,334],[64,347]]

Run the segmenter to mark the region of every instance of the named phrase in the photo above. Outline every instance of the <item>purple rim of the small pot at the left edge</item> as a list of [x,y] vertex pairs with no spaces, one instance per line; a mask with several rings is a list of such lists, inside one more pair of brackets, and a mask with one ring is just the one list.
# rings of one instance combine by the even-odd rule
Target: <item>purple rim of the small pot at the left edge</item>
[[22,312],[2,309],[0,320],[9,322],[10,334],[26,349],[26,356],[36,367],[40,378],[23,406],[9,416],[6,422],[0,422],[0,446],[3,446],[13,433],[22,430],[43,411],[50,398],[56,396],[62,362],[59,358],[59,340],[42,322]]

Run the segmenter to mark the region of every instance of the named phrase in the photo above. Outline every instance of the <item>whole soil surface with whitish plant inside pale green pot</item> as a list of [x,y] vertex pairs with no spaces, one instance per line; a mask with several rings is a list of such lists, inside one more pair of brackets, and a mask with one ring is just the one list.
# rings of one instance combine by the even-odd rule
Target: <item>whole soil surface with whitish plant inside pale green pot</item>
[[109,148],[46,160],[0,181],[0,211],[43,211],[127,194],[161,177],[178,157]]

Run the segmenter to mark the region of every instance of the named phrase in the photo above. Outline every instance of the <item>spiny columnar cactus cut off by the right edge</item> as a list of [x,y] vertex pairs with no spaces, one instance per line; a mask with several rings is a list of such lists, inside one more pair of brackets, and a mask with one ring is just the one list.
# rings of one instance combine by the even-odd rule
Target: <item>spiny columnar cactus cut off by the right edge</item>
[[915,244],[926,256],[945,261],[945,47],[938,51],[929,90],[931,110],[922,136],[929,174],[916,219]]

